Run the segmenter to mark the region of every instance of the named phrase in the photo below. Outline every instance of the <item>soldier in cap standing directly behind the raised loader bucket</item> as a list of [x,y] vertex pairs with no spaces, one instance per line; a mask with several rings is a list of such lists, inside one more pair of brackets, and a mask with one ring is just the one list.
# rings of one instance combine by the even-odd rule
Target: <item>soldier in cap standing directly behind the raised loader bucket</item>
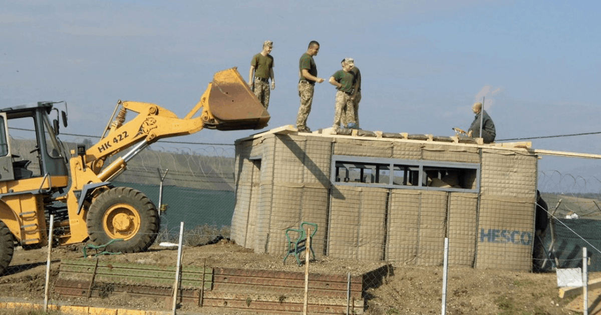
[[269,78],[271,78],[271,89],[275,89],[273,57],[269,55],[272,49],[273,41],[264,41],[263,50],[252,57],[251,70],[248,73],[248,85],[265,109],[269,107]]

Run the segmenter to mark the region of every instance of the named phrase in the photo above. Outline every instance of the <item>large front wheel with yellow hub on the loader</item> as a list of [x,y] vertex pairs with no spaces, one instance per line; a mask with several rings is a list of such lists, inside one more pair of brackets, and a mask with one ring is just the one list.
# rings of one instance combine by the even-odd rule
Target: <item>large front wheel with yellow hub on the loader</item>
[[103,250],[138,253],[153,244],[159,232],[159,213],[141,191],[115,187],[103,191],[92,202],[86,218],[88,235],[96,245],[108,244]]

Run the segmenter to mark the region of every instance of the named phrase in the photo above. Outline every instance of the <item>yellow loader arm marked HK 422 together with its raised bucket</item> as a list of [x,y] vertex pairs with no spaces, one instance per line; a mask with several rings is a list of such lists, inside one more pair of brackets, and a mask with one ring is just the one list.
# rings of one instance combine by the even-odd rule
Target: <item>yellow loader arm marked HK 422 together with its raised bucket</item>
[[[106,158],[136,143],[150,145],[165,137],[192,134],[203,128],[260,129],[266,127],[270,118],[236,68],[216,73],[200,101],[184,118],[178,118],[173,112],[157,104],[118,101],[117,106],[120,110],[105,131],[105,136],[87,149],[84,156],[86,167],[90,167],[99,177],[102,175],[102,181],[112,178],[121,169],[111,166],[103,170]],[[199,110],[200,115],[194,117]],[[125,122],[129,112],[137,115]],[[145,145],[132,151],[133,155]],[[126,162],[125,157],[123,160]]]

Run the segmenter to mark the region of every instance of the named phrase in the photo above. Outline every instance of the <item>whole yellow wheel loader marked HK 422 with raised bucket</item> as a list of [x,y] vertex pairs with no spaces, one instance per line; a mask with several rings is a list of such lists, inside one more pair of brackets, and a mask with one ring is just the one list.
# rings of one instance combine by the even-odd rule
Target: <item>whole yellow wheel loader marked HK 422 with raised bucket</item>
[[[100,141],[90,148],[78,145],[68,157],[57,137],[59,122],[67,127],[67,113],[56,104],[38,102],[0,110],[0,274],[10,265],[15,244],[25,250],[48,244],[50,215],[55,218],[58,245],[88,239],[103,245],[123,239],[111,242],[106,250],[147,250],[159,230],[156,206],[138,190],[111,184],[127,161],[165,137],[203,128],[260,129],[270,118],[236,68],[231,68],[215,74],[184,118],[156,104],[118,101]],[[132,112],[135,116],[127,119]],[[16,145],[11,132],[25,128],[23,124],[35,129],[35,140]],[[37,166],[32,166],[32,160]]]

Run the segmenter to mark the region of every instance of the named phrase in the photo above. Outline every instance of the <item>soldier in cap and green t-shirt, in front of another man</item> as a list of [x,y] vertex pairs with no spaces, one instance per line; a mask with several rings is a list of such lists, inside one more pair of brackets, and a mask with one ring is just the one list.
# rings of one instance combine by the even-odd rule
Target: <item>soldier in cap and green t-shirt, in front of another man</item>
[[[349,58],[343,59],[340,64],[342,70],[336,71],[329,79],[331,85],[336,86],[336,103],[334,109],[334,124],[332,125],[332,133],[340,131],[340,122],[350,119],[349,125],[355,125],[355,111],[353,101],[350,99],[353,95],[353,82],[355,76],[350,72],[353,67],[352,62],[348,62]],[[346,116],[346,118],[343,118]],[[346,127],[346,126],[343,126]]]

